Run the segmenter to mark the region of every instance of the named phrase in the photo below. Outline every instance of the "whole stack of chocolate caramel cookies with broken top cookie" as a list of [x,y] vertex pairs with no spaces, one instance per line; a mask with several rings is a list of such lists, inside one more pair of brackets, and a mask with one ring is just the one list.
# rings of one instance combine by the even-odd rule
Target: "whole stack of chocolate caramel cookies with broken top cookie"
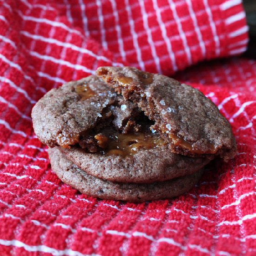
[[213,158],[229,161],[229,122],[198,90],[132,67],[49,91],[32,111],[53,171],[81,193],[142,202],[192,188]]

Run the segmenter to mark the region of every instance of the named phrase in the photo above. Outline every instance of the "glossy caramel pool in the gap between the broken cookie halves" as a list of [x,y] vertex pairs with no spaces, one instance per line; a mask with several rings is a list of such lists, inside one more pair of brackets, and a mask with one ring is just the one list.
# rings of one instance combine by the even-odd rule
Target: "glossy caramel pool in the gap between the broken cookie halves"
[[157,135],[144,133],[119,134],[114,140],[108,142],[104,155],[135,155],[141,148],[150,149],[166,145],[164,140]]

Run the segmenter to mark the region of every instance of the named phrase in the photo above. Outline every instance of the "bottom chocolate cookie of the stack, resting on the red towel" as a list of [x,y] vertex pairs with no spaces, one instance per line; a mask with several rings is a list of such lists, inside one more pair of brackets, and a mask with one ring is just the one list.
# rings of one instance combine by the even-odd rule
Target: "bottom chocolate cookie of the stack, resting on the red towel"
[[191,189],[200,179],[202,170],[192,175],[155,183],[109,182],[88,175],[69,161],[58,148],[49,148],[48,155],[53,171],[64,183],[81,193],[108,200],[143,202],[172,198]]

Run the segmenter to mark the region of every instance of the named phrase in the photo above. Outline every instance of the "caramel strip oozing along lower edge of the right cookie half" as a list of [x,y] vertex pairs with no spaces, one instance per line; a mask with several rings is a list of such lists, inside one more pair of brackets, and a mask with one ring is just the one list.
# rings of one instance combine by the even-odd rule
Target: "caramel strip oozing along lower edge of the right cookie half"
[[188,149],[191,153],[195,154],[215,154],[217,152],[217,148],[209,143],[209,150],[202,151],[198,148],[195,148],[195,146],[192,143],[189,143],[188,141],[185,141],[182,137],[179,137],[175,134],[169,134],[169,138],[172,139],[172,143],[177,146],[181,147],[183,149]]

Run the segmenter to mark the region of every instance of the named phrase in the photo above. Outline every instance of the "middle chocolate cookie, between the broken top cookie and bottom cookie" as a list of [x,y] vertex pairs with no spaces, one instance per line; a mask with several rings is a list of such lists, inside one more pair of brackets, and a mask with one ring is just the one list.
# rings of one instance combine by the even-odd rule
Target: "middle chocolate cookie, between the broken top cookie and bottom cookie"
[[[143,135],[141,135],[143,136]],[[137,146],[143,143],[135,135],[122,135],[123,148],[128,150],[133,144],[129,143],[137,138]],[[148,141],[146,143],[149,143]],[[153,142],[152,142],[153,143]],[[126,149],[125,149],[126,148]],[[176,177],[189,175],[202,169],[209,158],[192,158],[171,153],[167,145],[155,148],[141,148],[134,155],[102,155],[101,153],[86,153],[82,148],[60,148],[67,159],[74,162],[88,175],[112,182],[150,183],[162,182]]]

